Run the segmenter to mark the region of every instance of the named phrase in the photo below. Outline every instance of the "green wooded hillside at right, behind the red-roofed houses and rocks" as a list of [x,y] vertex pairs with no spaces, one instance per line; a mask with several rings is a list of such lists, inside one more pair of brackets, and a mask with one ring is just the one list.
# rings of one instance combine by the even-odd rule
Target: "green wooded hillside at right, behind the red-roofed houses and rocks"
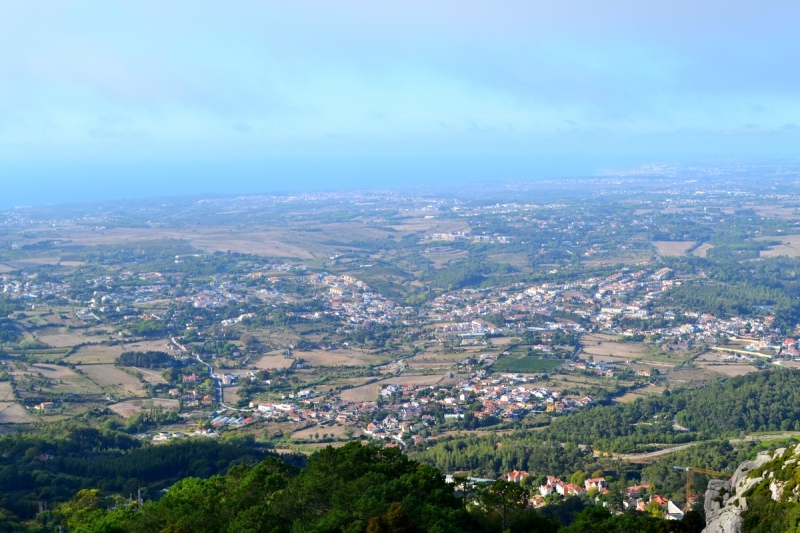
[[[676,422],[688,431],[677,428]],[[516,468],[566,474],[582,466],[585,454],[578,444],[626,453],[649,449],[652,443],[679,444],[780,430],[800,430],[797,370],[751,373],[630,404],[598,406],[558,418],[546,430],[443,439],[416,457],[447,472],[497,475]]]

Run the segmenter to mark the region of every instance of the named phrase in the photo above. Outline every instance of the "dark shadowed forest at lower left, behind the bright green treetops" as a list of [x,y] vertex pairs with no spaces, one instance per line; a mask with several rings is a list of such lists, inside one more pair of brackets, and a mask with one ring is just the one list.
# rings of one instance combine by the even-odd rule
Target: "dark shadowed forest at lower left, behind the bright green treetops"
[[[276,454],[252,438],[184,439],[153,446],[110,429],[77,422],[0,438],[0,508],[32,518],[37,502],[54,505],[78,490],[145,494],[187,476],[208,477],[233,465],[256,464]],[[301,456],[285,461],[303,464]]]

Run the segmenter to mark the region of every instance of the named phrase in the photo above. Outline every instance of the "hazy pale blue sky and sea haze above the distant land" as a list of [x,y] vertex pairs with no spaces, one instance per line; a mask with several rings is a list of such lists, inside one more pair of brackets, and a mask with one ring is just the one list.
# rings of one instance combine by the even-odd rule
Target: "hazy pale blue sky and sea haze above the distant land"
[[800,3],[0,0],[0,208],[800,159]]

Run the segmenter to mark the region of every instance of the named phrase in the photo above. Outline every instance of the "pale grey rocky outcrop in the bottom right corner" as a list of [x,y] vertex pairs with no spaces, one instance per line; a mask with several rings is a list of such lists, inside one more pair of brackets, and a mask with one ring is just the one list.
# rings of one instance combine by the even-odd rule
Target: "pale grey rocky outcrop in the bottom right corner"
[[709,481],[704,505],[706,528],[703,533],[741,533],[742,513],[747,510],[744,493],[764,480],[763,476],[751,476],[750,473],[782,457],[785,451],[781,448],[774,453],[761,452],[754,461],[740,464],[730,481]]

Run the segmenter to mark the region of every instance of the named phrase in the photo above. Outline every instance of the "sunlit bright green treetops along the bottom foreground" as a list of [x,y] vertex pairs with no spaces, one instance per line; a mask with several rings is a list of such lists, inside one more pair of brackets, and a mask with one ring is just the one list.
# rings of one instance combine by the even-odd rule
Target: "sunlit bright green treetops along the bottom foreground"
[[[96,489],[78,492],[40,525],[73,533],[125,532],[496,532],[699,533],[702,519],[687,513],[666,521],[646,513],[612,515],[603,507],[569,506],[559,516],[527,505],[526,489],[496,481],[448,484],[436,469],[396,448],[349,443],[325,448],[294,469],[277,458],[239,465],[224,476],[187,478],[158,501],[139,505]],[[573,502],[575,503],[575,502]],[[558,506],[556,506],[558,507]],[[611,507],[614,509],[613,505]],[[10,528],[7,528],[11,530]]]

